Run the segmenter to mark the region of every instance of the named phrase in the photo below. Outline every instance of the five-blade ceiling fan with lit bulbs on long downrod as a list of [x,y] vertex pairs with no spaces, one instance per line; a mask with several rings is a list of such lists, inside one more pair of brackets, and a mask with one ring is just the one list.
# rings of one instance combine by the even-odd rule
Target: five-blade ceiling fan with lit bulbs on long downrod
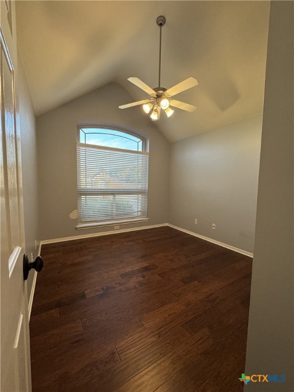
[[128,80],[149,94],[149,99],[143,101],[132,102],[126,105],[120,105],[119,109],[126,109],[132,106],[143,105],[143,110],[145,113],[151,112],[151,119],[156,121],[160,118],[161,109],[164,110],[167,117],[170,117],[171,114],[174,113],[174,110],[171,107],[185,110],[187,112],[193,112],[196,109],[196,106],[186,104],[181,101],[174,100],[171,98],[172,96],[179,94],[182,91],[188,90],[191,87],[197,86],[197,79],[190,77],[185,79],[183,82],[176,84],[174,87],[170,87],[166,89],[164,87],[160,87],[160,69],[161,69],[161,28],[165,24],[165,17],[158,16],[156,19],[157,26],[160,28],[159,35],[159,72],[158,72],[158,87],[151,88],[142,82],[139,78],[128,78]]

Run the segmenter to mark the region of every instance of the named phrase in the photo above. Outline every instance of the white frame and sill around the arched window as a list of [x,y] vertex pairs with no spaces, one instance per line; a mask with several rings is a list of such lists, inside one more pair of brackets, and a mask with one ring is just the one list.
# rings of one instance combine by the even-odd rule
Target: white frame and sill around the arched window
[[[137,151],[137,150],[126,150],[126,149],[119,149],[119,148],[112,148],[108,146],[103,146],[103,145],[98,145],[98,144],[88,144],[88,143],[83,143],[80,141],[80,131],[82,128],[93,128],[94,129],[105,129],[109,131],[119,131],[121,133],[125,133],[126,135],[134,136],[136,138],[139,138],[142,142],[142,151]],[[123,136],[122,136],[123,137]],[[131,130],[130,128],[118,125],[118,124],[106,124],[106,123],[100,123],[100,122],[80,122],[77,124],[77,150],[79,146],[89,146],[89,148],[94,147],[94,148],[100,148],[103,150],[108,150],[108,151],[121,151],[121,152],[130,152],[130,153],[139,153],[140,155],[147,155],[149,156],[149,138],[144,135],[143,133],[135,130]],[[78,158],[77,158],[77,180],[78,180]],[[149,182],[149,170],[147,174],[147,183]],[[107,192],[107,191],[106,191]],[[124,192],[117,192],[117,194],[122,194]],[[126,191],[126,193],[128,193]],[[78,183],[77,183],[77,197],[79,198],[79,189],[78,189]],[[103,194],[100,192],[96,193],[97,195]],[[149,220],[147,217],[147,212],[148,212],[148,187],[146,191],[146,216],[145,217],[138,217],[138,218],[132,218],[132,217],[126,217],[126,218],[118,218],[116,220],[103,220],[103,221],[87,221],[87,222],[79,222],[76,226],[77,230],[81,229],[89,229],[89,228],[94,228],[94,227],[106,227],[106,226],[114,226],[114,225],[126,225],[126,224],[132,224],[132,223],[140,223],[140,222],[146,222]],[[78,208],[79,210],[79,208]],[[78,211],[78,219],[79,219],[79,211]]]

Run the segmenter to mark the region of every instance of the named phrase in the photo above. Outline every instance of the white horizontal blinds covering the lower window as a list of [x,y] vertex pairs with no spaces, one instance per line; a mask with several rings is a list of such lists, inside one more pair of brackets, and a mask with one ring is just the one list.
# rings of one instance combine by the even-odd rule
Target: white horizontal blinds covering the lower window
[[148,153],[78,143],[79,223],[147,216]]

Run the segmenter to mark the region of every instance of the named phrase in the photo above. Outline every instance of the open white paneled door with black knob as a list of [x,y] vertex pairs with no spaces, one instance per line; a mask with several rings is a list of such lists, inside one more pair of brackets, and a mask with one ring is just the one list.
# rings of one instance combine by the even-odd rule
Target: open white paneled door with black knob
[[[0,1],[1,392],[31,391],[14,2]],[[28,152],[29,153],[29,152]]]

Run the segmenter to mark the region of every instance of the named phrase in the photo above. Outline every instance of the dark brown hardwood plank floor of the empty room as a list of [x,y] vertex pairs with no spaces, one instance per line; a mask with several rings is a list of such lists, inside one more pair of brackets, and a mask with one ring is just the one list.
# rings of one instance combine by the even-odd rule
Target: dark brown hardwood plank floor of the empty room
[[252,260],[169,227],[42,246],[33,392],[239,392]]

